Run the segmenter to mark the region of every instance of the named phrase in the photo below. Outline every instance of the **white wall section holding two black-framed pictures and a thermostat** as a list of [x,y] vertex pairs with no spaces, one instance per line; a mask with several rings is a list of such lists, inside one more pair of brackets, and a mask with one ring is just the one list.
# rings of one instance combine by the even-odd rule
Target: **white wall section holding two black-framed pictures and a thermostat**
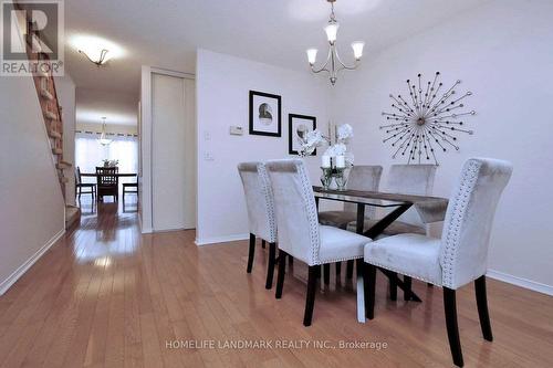
[[[316,116],[317,127],[326,127],[328,90],[325,80],[314,78],[307,72],[290,71],[207,50],[198,50],[197,57],[196,236],[197,243],[204,244],[248,235],[248,215],[237,165],[290,157],[289,113]],[[250,90],[282,96],[280,138],[248,134]],[[229,135],[231,125],[242,126],[244,135]],[[206,154],[213,159],[206,160]],[[307,162],[312,179],[319,181],[319,158],[310,157]]]

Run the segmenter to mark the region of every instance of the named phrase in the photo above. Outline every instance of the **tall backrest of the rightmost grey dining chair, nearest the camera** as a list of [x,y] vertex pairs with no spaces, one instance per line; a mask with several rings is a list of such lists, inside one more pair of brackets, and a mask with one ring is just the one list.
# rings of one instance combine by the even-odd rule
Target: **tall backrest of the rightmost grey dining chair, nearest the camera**
[[441,234],[442,285],[458,288],[486,274],[495,208],[512,174],[508,161],[471,158],[449,200]]

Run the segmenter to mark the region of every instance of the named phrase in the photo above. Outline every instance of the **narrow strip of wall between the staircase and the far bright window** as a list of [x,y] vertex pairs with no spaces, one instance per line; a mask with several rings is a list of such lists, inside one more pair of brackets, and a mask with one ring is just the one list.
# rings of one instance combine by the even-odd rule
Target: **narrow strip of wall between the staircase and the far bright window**
[[[63,160],[75,164],[75,83],[71,75],[56,76],[55,91],[62,106],[63,119]],[[75,204],[75,176],[73,167],[65,170],[69,182],[65,185],[65,202]]]

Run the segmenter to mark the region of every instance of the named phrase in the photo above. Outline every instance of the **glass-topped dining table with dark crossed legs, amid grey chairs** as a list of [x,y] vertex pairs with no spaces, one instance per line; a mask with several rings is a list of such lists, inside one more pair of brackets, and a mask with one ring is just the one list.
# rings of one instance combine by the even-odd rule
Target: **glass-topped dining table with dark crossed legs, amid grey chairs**
[[[421,221],[427,223],[444,221],[448,207],[448,199],[432,196],[415,196],[404,193],[388,193],[379,191],[365,190],[334,190],[323,187],[313,187],[315,203],[319,208],[321,199],[338,202],[347,202],[357,204],[356,233],[363,234],[371,239],[376,239],[384,230],[396,221],[403,213],[411,207],[416,209]],[[365,206],[383,208],[387,213],[378,219],[369,229],[364,229],[365,224]],[[410,283],[404,283],[397,274],[388,270],[378,269],[386,277],[389,278],[394,286],[404,291],[408,299],[421,302],[410,287]],[[365,323],[365,294],[363,273],[357,270],[357,320]]]

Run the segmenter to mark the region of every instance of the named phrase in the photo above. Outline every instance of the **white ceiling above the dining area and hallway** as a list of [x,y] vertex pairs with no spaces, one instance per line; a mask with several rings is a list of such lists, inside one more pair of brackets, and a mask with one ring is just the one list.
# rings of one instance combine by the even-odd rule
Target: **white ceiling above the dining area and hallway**
[[[482,0],[337,0],[338,49],[365,41],[365,57],[467,11]],[[67,0],[65,35],[85,33],[121,44],[126,56],[97,69],[66,46],[77,87],[138,96],[140,65],[195,72],[196,48],[305,70],[305,49],[326,52],[325,0]],[[323,51],[324,50],[324,51]]]

